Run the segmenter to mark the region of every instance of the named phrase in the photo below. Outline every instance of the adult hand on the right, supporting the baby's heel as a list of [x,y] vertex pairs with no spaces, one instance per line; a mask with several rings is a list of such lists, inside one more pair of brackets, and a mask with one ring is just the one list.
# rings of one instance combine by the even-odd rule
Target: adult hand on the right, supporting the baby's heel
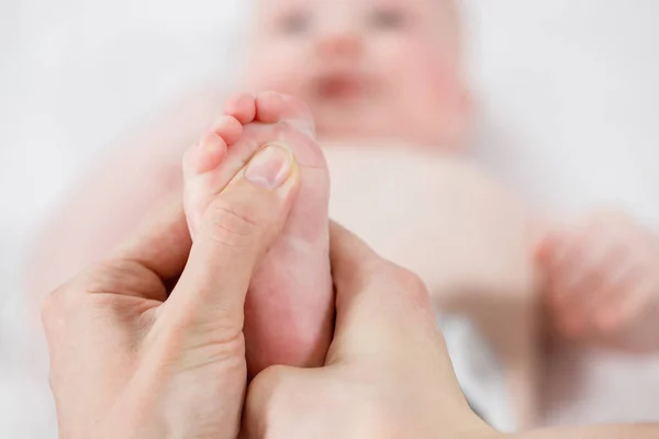
[[332,226],[336,333],[321,369],[250,384],[246,438],[490,438],[458,386],[424,284]]

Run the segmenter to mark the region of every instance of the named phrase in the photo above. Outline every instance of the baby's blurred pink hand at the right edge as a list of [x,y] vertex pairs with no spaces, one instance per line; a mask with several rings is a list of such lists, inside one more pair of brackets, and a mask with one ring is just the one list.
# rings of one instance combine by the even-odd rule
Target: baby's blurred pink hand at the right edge
[[624,214],[554,229],[537,257],[550,315],[571,338],[627,329],[659,296],[659,239]]

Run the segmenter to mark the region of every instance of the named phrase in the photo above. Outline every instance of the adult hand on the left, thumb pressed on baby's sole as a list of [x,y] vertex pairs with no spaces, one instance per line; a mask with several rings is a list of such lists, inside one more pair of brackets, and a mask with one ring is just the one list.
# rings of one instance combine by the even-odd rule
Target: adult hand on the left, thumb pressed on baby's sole
[[292,204],[299,177],[290,161],[279,161],[289,177],[276,189],[263,184],[277,169],[239,172],[192,247],[177,204],[49,296],[43,320],[60,437],[238,435],[245,295]]

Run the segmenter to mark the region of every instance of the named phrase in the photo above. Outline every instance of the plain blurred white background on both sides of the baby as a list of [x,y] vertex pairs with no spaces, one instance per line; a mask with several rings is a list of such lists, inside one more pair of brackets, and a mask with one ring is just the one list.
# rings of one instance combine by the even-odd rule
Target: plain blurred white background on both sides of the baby
[[[200,81],[234,89],[246,3],[0,0],[0,437],[55,437],[22,291],[36,232],[130,126]],[[462,4],[477,158],[545,209],[659,227],[659,2]]]

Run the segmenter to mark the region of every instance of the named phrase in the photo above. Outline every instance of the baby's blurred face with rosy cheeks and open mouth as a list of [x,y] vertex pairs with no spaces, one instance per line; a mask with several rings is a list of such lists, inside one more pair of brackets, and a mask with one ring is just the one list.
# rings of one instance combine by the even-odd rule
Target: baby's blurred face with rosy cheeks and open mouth
[[454,146],[468,120],[449,0],[259,0],[245,78],[303,99],[322,139]]

